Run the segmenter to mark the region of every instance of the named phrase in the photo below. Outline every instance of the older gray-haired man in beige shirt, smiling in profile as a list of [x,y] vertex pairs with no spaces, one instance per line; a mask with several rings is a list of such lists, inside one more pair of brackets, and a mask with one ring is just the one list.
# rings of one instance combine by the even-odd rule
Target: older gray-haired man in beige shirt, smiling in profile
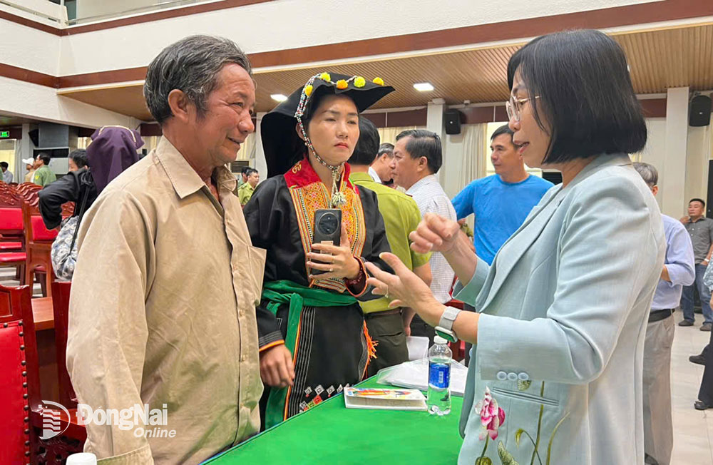
[[265,251],[251,245],[225,168],[255,130],[255,85],[235,44],[191,36],[150,64],[144,96],[163,138],[82,221],[67,367],[95,412],[166,412],[158,426],[90,421],[85,451],[195,464],[260,429]]

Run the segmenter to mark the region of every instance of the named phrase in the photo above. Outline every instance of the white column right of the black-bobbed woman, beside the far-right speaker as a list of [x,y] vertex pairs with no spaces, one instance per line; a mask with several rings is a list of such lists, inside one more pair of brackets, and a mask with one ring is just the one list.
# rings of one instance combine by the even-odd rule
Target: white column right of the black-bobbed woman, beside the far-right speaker
[[[662,213],[681,218],[687,199],[686,146],[688,140],[688,88],[668,89],[666,96],[666,151],[663,169],[659,170]],[[707,167],[699,167],[707,169]]]

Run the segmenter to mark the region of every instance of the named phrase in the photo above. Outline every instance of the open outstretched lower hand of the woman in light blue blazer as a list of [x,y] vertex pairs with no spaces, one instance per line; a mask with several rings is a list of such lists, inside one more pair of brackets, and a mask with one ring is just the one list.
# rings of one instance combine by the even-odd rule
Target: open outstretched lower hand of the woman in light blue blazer
[[431,289],[393,253],[383,252],[379,257],[395,274],[391,275],[373,263],[367,263],[366,268],[371,277],[366,283],[375,287],[374,294],[384,295],[391,300],[391,308],[411,307],[426,323],[436,326],[441,319],[443,305],[434,298]]

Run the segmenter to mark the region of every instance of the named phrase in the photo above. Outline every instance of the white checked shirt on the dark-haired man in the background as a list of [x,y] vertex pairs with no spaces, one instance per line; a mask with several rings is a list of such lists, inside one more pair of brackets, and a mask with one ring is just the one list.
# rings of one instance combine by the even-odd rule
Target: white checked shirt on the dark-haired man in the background
[[[438,183],[436,175],[428,175],[417,181],[406,191],[406,194],[416,200],[416,205],[419,205],[419,210],[421,210],[421,218],[426,213],[436,213],[448,220],[457,220],[456,210],[453,209],[451,200]],[[431,275],[433,275],[431,292],[438,302],[446,303],[451,300],[451,286],[455,273],[451,265],[448,265],[446,257],[443,257],[440,252],[434,252],[429,263],[431,264]]]

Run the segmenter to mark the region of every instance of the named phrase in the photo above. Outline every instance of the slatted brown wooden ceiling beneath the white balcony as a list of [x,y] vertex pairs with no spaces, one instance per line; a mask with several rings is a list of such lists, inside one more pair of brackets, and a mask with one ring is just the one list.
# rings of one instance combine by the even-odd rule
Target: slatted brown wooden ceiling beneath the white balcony
[[[663,93],[667,88],[689,86],[692,91],[713,89],[713,24],[614,34],[631,68],[637,93]],[[289,95],[310,76],[322,71],[379,76],[396,92],[374,108],[425,106],[433,98],[446,103],[505,101],[508,98],[507,64],[519,46],[479,48],[449,53],[388,58],[360,63],[308,66],[282,71],[257,71],[257,111],[270,111],[277,103],[271,94]],[[435,90],[419,92],[413,85],[430,82]],[[61,91],[64,96],[150,121],[140,85],[90,91]]]

